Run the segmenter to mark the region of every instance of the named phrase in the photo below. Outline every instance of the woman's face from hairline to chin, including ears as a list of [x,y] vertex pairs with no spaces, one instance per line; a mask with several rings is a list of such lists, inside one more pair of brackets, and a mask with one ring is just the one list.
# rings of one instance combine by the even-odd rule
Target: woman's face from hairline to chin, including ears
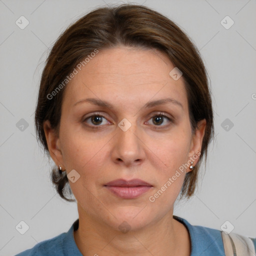
[[99,51],[66,85],[59,136],[46,137],[55,163],[72,170],[79,217],[135,230],[172,214],[204,132],[203,124],[191,132],[173,68],[156,49],[118,46]]

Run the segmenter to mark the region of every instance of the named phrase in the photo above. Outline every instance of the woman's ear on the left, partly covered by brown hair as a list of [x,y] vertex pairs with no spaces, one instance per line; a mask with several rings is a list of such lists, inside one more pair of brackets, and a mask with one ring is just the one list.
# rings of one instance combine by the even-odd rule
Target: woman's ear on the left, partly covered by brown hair
[[57,166],[60,164],[61,168],[64,169],[62,164],[63,158],[60,150],[59,136],[56,130],[51,128],[49,120],[43,122],[43,130],[46,137],[50,157]]

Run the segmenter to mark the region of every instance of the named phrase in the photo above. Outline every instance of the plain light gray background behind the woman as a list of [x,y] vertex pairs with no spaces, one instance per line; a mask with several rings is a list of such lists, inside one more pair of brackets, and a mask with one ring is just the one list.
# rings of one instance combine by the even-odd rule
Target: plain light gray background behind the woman
[[[118,1],[0,0],[0,255],[65,232],[78,217],[76,203],[62,200],[51,185],[52,161],[37,144],[33,113],[48,48],[71,22],[112,2]],[[256,237],[256,0],[137,3],[187,32],[211,80],[215,142],[198,191],[179,202],[174,214],[216,229],[228,220],[233,232]],[[24,29],[15,24],[21,15],[29,21]],[[226,15],[234,21],[229,29],[220,23]],[[21,118],[28,124],[23,130],[16,126]],[[226,118],[233,123],[229,130],[222,123]],[[15,228],[21,220],[29,226],[24,234]]]

